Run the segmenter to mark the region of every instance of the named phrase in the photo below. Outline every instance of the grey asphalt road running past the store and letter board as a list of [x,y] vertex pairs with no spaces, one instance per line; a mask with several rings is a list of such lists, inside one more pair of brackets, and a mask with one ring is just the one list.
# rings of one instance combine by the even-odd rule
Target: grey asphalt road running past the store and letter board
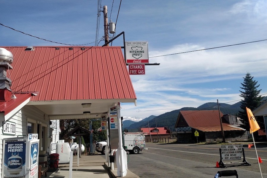
[[227,168],[216,168],[217,161],[220,161],[221,145],[147,143],[146,147],[148,150],[143,150],[138,155],[128,155],[128,169],[139,177],[213,178],[217,171],[236,170],[239,178],[260,178],[260,169],[263,177],[267,177],[267,146],[265,145],[256,145],[258,156],[263,161],[260,166],[255,148],[252,147],[249,150],[244,145],[245,157],[251,166],[229,165]]

